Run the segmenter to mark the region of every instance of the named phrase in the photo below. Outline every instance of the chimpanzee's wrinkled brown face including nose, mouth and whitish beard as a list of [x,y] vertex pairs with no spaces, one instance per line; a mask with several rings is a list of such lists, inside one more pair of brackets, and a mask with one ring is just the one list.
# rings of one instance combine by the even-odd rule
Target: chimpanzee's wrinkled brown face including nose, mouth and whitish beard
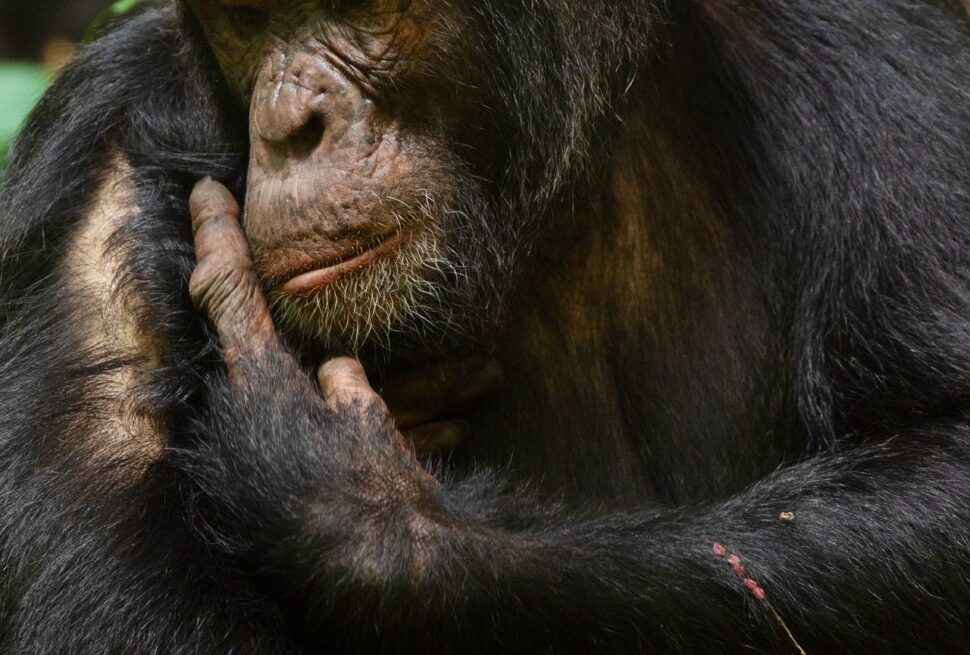
[[440,0],[189,6],[249,105],[244,225],[283,329],[350,350],[467,331],[496,254],[464,172],[488,104],[466,17]]

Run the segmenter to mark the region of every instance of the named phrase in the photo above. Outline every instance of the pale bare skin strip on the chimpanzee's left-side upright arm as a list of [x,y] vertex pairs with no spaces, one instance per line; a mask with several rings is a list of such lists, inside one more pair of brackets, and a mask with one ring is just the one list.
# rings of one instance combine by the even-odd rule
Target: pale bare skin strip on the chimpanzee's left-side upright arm
[[165,444],[138,393],[153,367],[154,349],[138,329],[137,297],[119,288],[124,252],[111,247],[112,236],[137,210],[131,166],[118,155],[70,240],[64,273],[75,299],[77,329],[84,335],[79,358],[83,365],[105,370],[88,389],[92,409],[85,420],[91,445],[99,456],[140,471],[160,456]]

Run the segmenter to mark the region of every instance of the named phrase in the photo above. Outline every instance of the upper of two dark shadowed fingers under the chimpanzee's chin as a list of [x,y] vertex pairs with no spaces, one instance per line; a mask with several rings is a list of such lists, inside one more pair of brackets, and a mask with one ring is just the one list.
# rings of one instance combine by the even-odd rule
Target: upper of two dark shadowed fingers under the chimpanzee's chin
[[398,428],[407,430],[467,409],[495,393],[503,379],[498,363],[476,358],[389,380],[381,396]]

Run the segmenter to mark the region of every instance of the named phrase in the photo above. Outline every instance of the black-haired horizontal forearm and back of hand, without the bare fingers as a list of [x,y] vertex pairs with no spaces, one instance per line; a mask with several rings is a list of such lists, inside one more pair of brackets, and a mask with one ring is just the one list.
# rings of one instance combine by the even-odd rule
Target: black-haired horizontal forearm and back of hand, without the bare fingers
[[[277,411],[268,397],[240,404]],[[304,420],[306,432],[229,436],[254,420],[223,430],[216,460],[235,477],[202,476],[210,501],[218,496],[210,507],[221,507],[217,542],[242,545],[267,580],[300,589],[322,629],[338,619],[344,634],[366,626],[362,642],[420,641],[415,626],[433,624],[441,643],[455,643],[445,633],[460,625],[463,642],[483,650],[772,650],[794,648],[790,630],[809,652],[878,650],[884,637],[905,652],[926,638],[908,644],[897,624],[945,613],[959,605],[941,599],[967,593],[958,571],[970,498],[952,491],[967,461],[956,432],[818,457],[713,507],[577,517],[485,477],[439,484],[391,447],[368,446],[353,454],[359,468],[335,470],[321,435],[347,444],[351,433],[384,430],[373,442],[393,444],[378,413],[370,423],[322,416]],[[946,446],[936,457],[926,456],[931,440]],[[242,520],[226,521],[232,512]]]

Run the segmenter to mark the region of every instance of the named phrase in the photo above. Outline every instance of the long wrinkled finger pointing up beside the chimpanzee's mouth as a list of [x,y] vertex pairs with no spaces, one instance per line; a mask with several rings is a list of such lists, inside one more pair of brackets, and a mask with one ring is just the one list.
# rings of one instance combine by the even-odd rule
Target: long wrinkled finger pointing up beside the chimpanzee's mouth
[[261,350],[275,339],[266,300],[239,225],[239,205],[211,179],[196,184],[189,199],[198,264],[189,293],[212,319],[229,351]]

